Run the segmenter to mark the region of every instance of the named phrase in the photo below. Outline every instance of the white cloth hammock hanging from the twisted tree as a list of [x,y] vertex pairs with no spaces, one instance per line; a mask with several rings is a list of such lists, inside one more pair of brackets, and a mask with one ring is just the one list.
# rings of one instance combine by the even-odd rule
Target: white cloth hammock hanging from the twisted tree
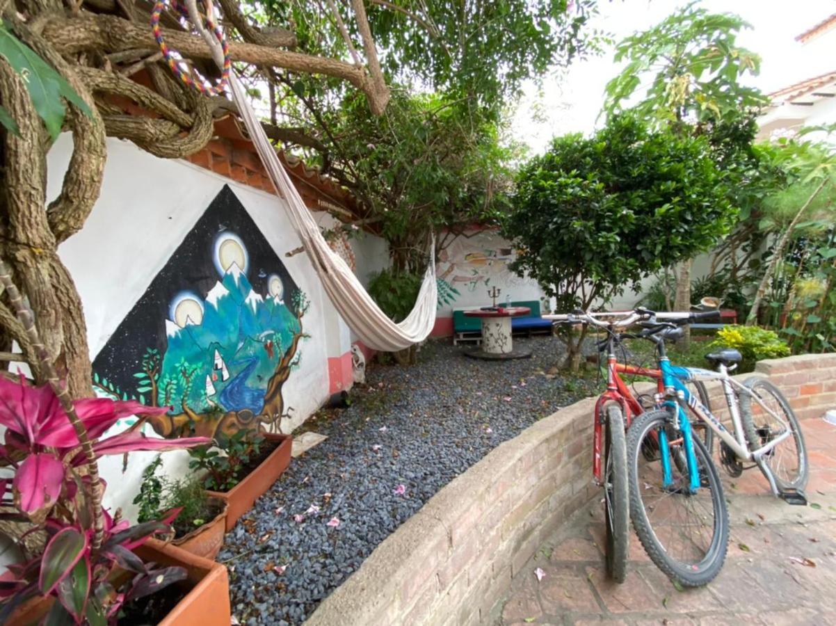
[[[202,20],[196,13],[194,1],[191,0],[186,4],[191,13],[191,22],[200,31],[204,40],[209,43],[216,62],[220,61],[219,66],[222,66],[222,53],[217,40],[204,28]],[[209,6],[211,6],[211,3]],[[196,15],[198,15],[197,18]],[[247,99],[247,94],[238,82],[234,70],[229,74],[229,84],[232,88],[232,101],[237,104],[238,112],[244,120],[244,125],[247,126],[252,145],[255,145],[264,169],[267,170],[270,180],[273,181],[273,186],[276,188],[278,195],[287,202],[293,228],[296,230],[299,239],[302,240],[305,252],[308,253],[308,257],[310,257],[331,303],[339,311],[345,323],[354,333],[357,333],[365,345],[371,349],[384,352],[395,352],[396,350],[409,348],[410,345],[418,344],[426,339],[436,322],[438,294],[436,288],[435,241],[432,242],[430,264],[424,272],[424,282],[421,283],[421,290],[418,292],[415,307],[403,322],[393,322],[372,300],[342,257],[331,250],[328,242],[325,241],[322,232],[319,231],[319,226],[308,211],[308,207],[305,206],[302,197],[299,196],[299,192],[290,181],[288,172],[284,170],[281,161],[278,160],[276,150],[270,144],[261,123],[257,120],[255,112]]]

